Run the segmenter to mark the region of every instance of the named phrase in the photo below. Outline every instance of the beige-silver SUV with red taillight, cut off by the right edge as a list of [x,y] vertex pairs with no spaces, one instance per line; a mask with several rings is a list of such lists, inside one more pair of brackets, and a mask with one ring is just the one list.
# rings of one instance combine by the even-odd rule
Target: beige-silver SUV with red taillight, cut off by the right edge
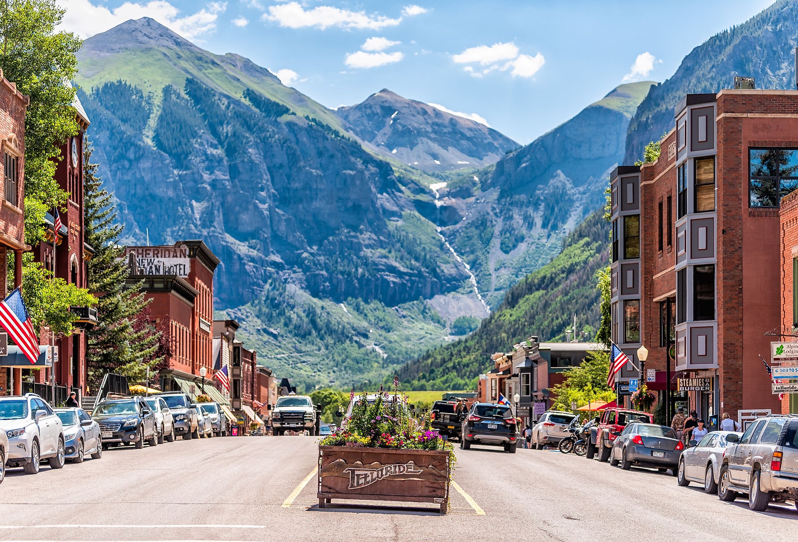
[[759,512],[771,501],[796,501],[798,509],[798,415],[770,414],[753,422],[742,436],[726,435],[730,446],[721,463],[717,496],[734,501],[748,494]]

